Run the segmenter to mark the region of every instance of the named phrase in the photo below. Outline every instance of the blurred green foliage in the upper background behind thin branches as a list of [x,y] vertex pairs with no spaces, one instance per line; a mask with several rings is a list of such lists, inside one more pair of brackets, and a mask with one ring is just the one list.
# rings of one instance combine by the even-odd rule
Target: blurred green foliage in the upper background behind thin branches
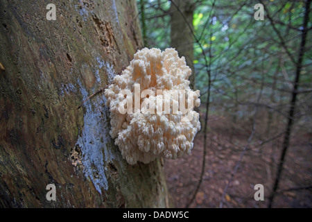
[[[170,1],[145,1],[149,46],[164,49],[170,46]],[[288,103],[300,49],[304,1],[264,1],[268,14],[264,20],[254,19],[254,1],[195,1],[193,12],[193,60],[196,87],[201,100],[207,96],[211,70],[211,105],[216,110],[226,104],[255,102],[261,92],[261,103]],[[161,16],[164,15],[164,16]],[[308,27],[312,24],[309,22]],[[188,28],[188,27],[186,27]],[[277,31],[278,33],[277,33]],[[281,44],[281,38],[285,46]],[[311,88],[311,34],[308,33],[300,88]],[[286,53],[285,47],[288,50]],[[207,58],[203,57],[202,49]],[[300,95],[301,96],[301,95]],[[305,97],[304,97],[305,96]],[[308,95],[302,95],[306,98]],[[309,103],[309,102],[308,102]],[[311,102],[310,102],[311,103]],[[309,103],[309,105],[311,105]],[[219,108],[217,108],[219,107]],[[246,115],[248,110],[241,110]]]

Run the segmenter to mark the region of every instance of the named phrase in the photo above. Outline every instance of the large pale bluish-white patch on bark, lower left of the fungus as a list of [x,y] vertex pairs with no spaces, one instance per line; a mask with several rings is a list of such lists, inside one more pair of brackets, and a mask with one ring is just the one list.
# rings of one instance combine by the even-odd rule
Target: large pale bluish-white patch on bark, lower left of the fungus
[[[88,92],[83,84],[78,80],[80,92],[83,94],[83,100],[87,99]],[[76,144],[81,148],[83,154],[82,163],[84,173],[94,183],[96,190],[102,194],[101,189],[108,189],[107,177],[105,175],[105,162],[114,158],[111,151],[107,149],[106,144],[111,139],[108,134],[109,120],[106,118],[107,108],[105,108],[105,96],[99,94],[85,102],[84,107],[84,126],[81,135],[78,137]],[[104,162],[105,161],[105,162]]]

